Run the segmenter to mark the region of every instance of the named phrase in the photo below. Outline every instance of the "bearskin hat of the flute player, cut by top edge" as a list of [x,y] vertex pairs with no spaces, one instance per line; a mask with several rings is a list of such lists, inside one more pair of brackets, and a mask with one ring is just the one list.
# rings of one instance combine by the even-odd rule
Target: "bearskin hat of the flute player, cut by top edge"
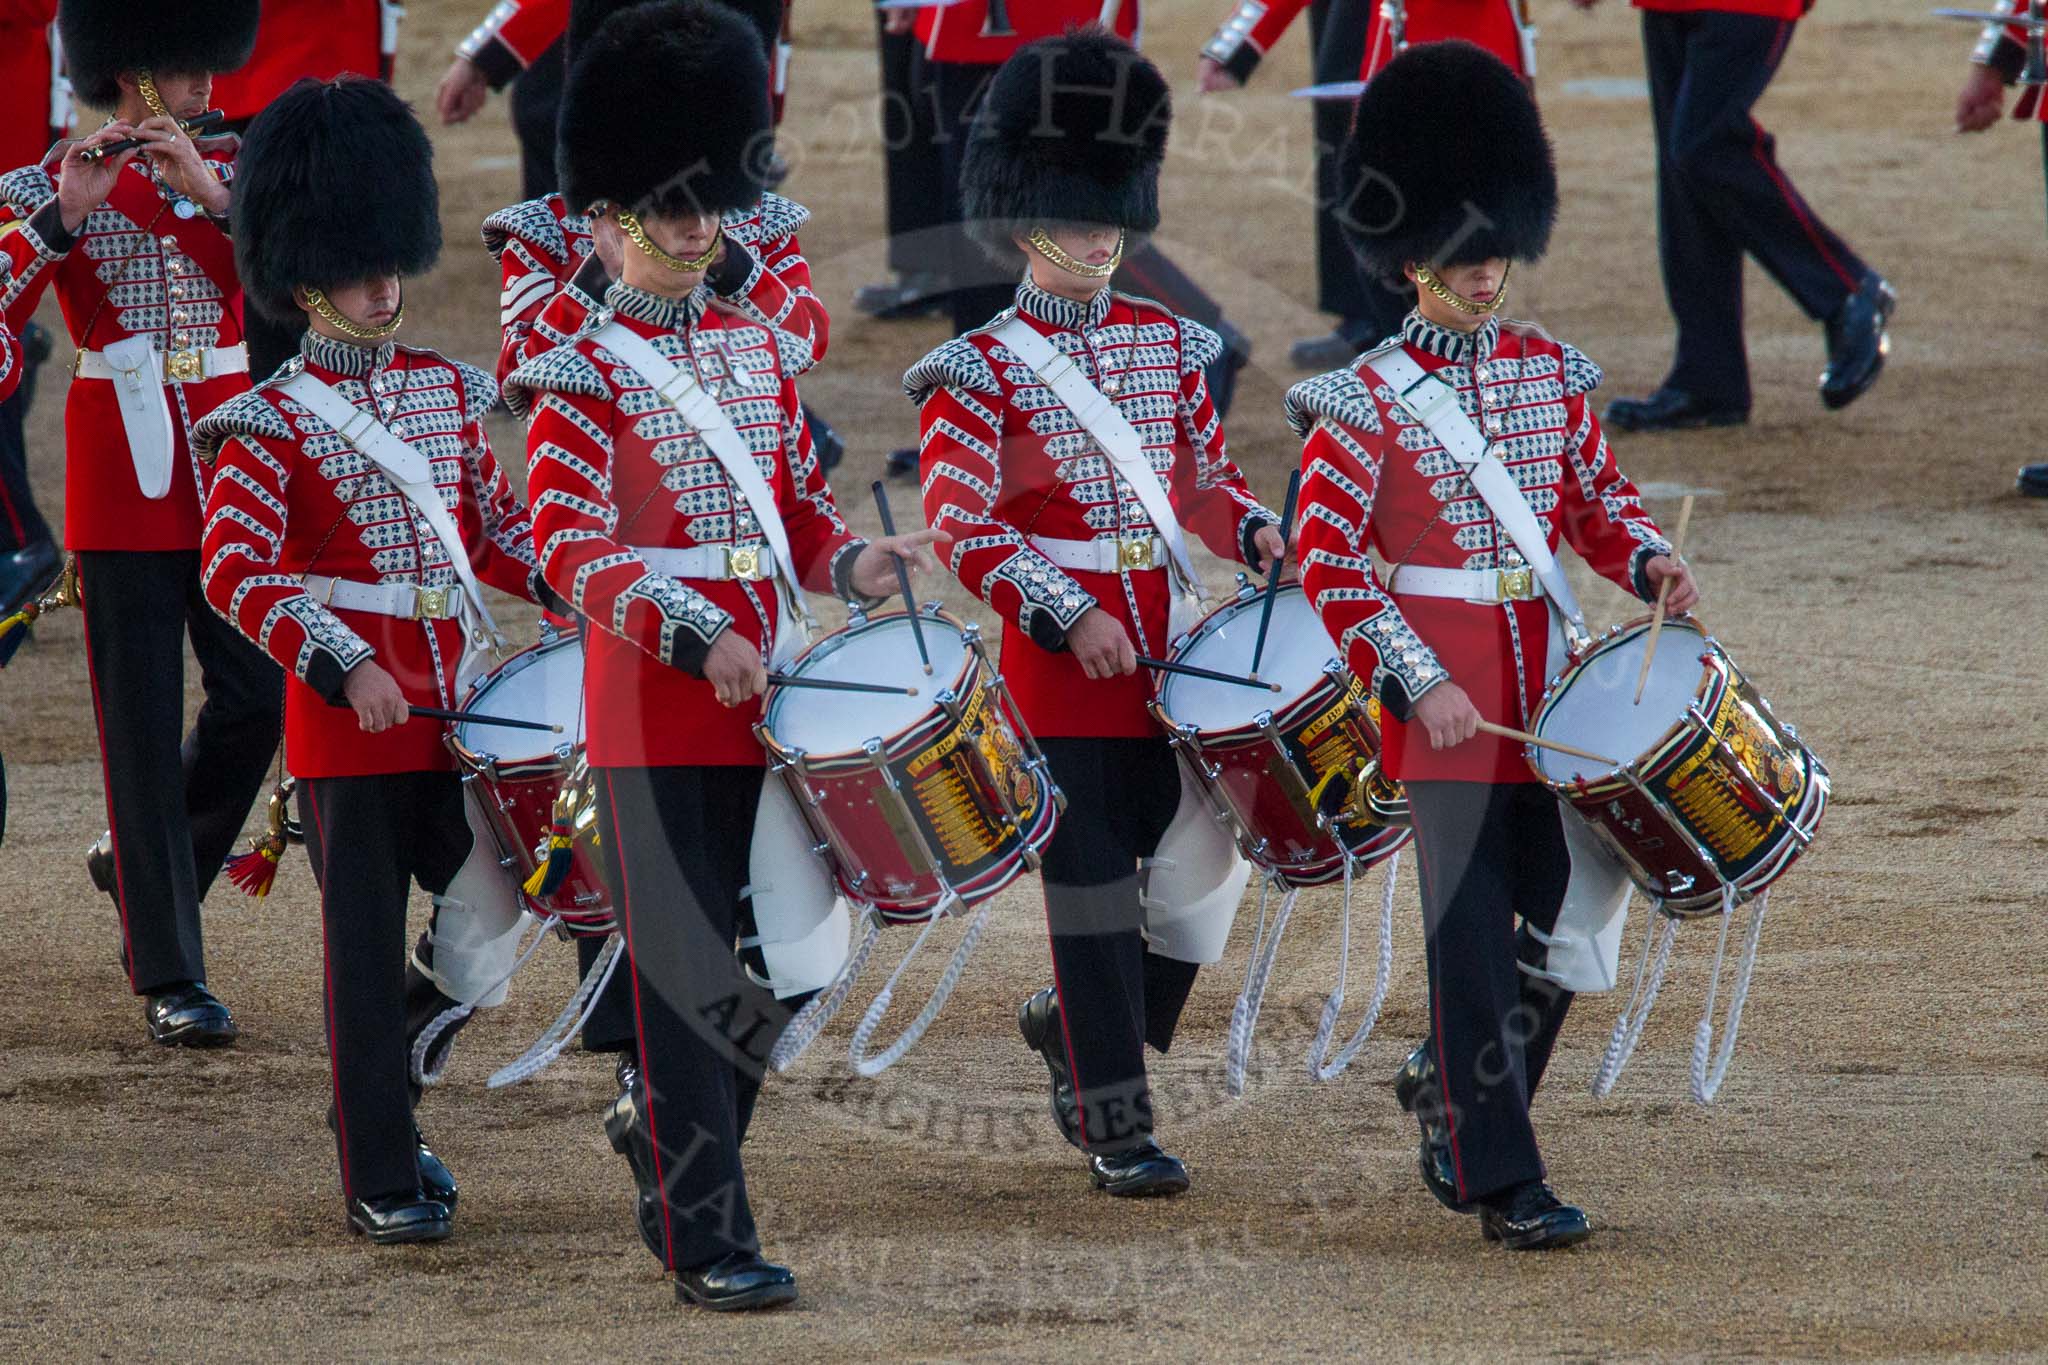
[[121,100],[121,72],[231,72],[256,49],[260,0],[61,0],[57,33],[84,104]]

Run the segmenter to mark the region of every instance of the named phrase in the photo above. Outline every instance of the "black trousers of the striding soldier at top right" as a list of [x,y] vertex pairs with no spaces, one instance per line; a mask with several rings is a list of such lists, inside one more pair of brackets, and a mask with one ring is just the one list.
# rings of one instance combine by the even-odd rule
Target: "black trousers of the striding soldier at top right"
[[1642,12],[1657,127],[1657,246],[1677,352],[1665,381],[1714,407],[1749,409],[1743,254],[1823,321],[1870,268],[1806,207],[1751,117],[1792,20],[1718,10]]

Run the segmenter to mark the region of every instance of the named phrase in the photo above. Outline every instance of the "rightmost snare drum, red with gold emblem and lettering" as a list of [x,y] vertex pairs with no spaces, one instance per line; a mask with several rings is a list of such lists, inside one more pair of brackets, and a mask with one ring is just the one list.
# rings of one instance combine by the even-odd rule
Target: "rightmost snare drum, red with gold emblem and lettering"
[[1696,620],[1667,620],[1634,704],[1651,620],[1573,651],[1530,731],[1620,767],[1526,749],[1536,776],[1675,915],[1720,913],[1776,882],[1827,810],[1829,776]]

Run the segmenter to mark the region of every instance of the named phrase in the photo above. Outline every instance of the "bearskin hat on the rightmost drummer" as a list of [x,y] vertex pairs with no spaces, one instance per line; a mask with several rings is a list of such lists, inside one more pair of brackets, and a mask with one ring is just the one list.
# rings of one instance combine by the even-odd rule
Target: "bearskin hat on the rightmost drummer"
[[1358,96],[1337,221],[1374,274],[1409,262],[1536,260],[1556,221],[1556,164],[1522,78],[1464,41],[1421,43]]

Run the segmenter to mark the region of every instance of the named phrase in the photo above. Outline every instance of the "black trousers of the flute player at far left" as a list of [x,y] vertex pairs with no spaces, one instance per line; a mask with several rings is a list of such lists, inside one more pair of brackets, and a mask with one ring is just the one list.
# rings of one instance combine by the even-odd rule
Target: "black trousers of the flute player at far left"
[[[129,986],[205,980],[199,902],[276,753],[285,679],[213,614],[199,551],[80,551]],[[184,745],[184,639],[207,692]]]

